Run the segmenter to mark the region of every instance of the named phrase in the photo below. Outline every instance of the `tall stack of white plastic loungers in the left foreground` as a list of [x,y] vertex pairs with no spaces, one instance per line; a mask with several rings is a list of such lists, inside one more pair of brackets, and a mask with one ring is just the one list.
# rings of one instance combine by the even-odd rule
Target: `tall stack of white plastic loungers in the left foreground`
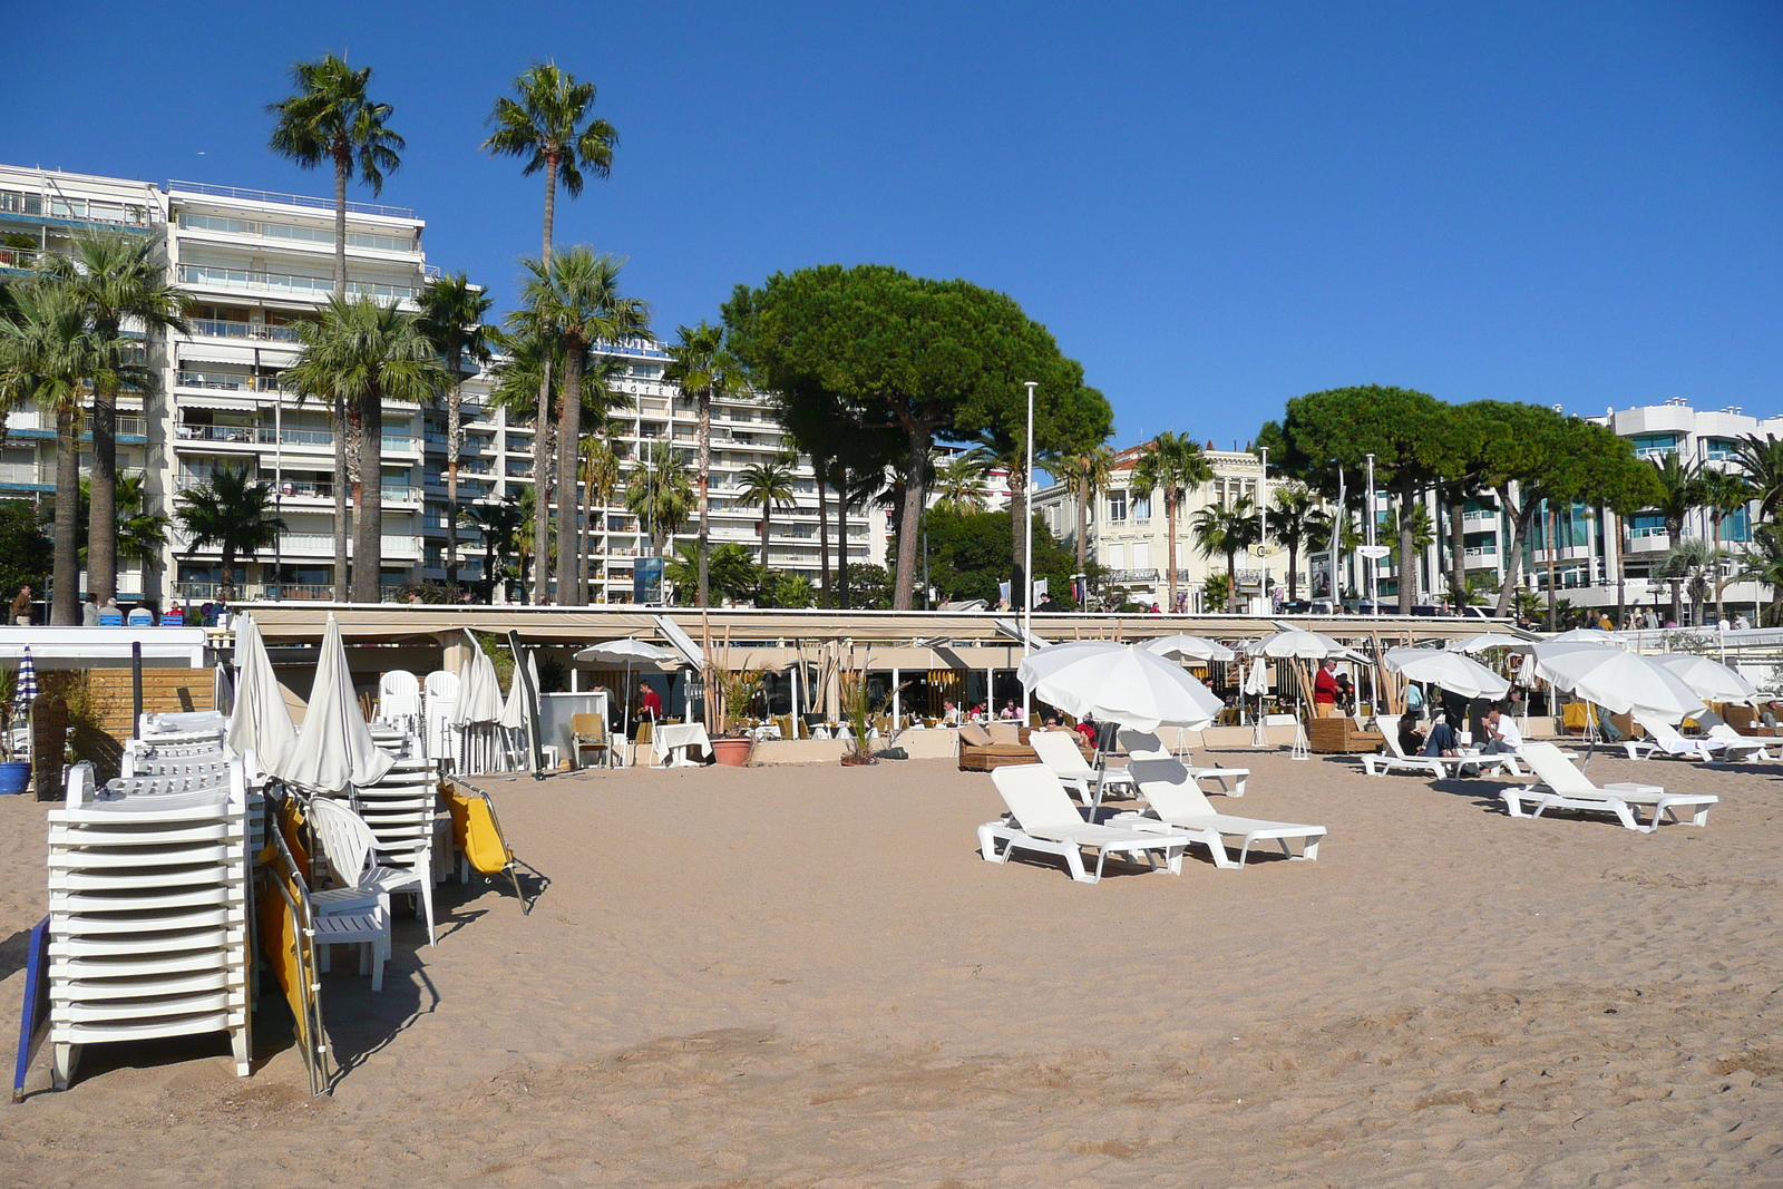
[[228,1032],[250,1073],[248,788],[241,763],[70,774],[50,813],[50,1045],[64,1089],[84,1045]]

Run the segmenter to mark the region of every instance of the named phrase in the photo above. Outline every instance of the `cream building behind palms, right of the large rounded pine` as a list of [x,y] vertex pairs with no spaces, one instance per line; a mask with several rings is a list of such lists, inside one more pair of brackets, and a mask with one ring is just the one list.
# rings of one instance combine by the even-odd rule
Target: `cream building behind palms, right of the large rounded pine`
[[[1204,556],[1195,540],[1195,513],[1207,506],[1230,508],[1239,499],[1257,503],[1259,485],[1266,497],[1275,499],[1278,480],[1264,481],[1262,458],[1250,451],[1207,449],[1214,478],[1187,492],[1177,508],[1177,540],[1170,540],[1170,522],[1164,515],[1163,492],[1141,490],[1132,483],[1141,446],[1123,449],[1114,458],[1107,490],[1100,492],[1088,510],[1086,533],[1089,556],[1107,567],[1105,585],[1120,588],[1134,603],[1170,603],[1170,551],[1177,553],[1177,604],[1186,611],[1202,611],[1204,590],[1212,576],[1225,576],[1225,554]],[[1045,517],[1047,528],[1066,547],[1077,547],[1077,492],[1066,483],[1054,483],[1034,492],[1034,512]],[[1305,553],[1298,562],[1296,586],[1300,597],[1309,597],[1307,574],[1311,560]],[[1266,581],[1268,579],[1268,581]],[[1287,554],[1259,558],[1250,553],[1237,556],[1237,597],[1243,601],[1264,594],[1268,586],[1287,586]]]

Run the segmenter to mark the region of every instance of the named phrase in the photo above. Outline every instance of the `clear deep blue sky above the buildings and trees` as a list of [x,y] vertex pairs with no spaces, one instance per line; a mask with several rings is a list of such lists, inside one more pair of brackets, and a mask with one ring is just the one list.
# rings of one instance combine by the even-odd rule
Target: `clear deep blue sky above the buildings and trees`
[[[533,59],[599,86],[558,241],[660,333],[738,282],[884,262],[1002,289],[1118,442],[1243,444],[1393,383],[1783,414],[1774,4],[23,5],[0,160],[326,194],[266,152],[292,61],[396,105],[383,201],[503,308],[542,184],[478,152]],[[369,194],[358,194],[369,198]]]

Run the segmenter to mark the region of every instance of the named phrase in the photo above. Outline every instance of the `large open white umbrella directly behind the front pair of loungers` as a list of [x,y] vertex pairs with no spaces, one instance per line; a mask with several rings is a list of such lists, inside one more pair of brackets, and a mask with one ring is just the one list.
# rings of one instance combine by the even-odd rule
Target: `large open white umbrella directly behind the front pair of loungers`
[[1212,690],[1157,652],[1104,640],[1057,644],[1016,670],[1034,697],[1068,715],[1118,722],[1134,731],[1161,726],[1198,731],[1225,709]]

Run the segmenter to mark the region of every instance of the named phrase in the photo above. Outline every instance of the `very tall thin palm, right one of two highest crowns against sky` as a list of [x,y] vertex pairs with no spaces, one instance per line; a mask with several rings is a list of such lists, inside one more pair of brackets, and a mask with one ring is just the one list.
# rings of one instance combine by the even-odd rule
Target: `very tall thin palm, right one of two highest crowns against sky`
[[[558,70],[556,62],[533,62],[531,70],[514,80],[515,98],[496,100],[496,109],[489,114],[494,132],[483,141],[483,148],[494,157],[521,157],[526,166],[521,176],[531,176],[540,169],[546,175],[546,219],[544,239],[538,260],[549,273],[553,264],[553,223],[556,221],[556,187],[576,198],[581,194],[581,171],[587,169],[597,178],[613,171],[613,146],[619,144],[619,132],[604,119],[590,119],[594,107],[594,84],[576,82],[576,75]],[[538,381],[538,431],[533,433],[533,490],[538,492],[538,506],[549,506],[549,442],[546,426],[551,422],[551,360],[546,358]],[[574,442],[574,439],[571,439]],[[565,446],[569,453],[572,446]],[[551,551],[549,521],[535,517],[533,549],[542,558]],[[538,567],[538,603],[546,603],[551,579],[546,567]]]

